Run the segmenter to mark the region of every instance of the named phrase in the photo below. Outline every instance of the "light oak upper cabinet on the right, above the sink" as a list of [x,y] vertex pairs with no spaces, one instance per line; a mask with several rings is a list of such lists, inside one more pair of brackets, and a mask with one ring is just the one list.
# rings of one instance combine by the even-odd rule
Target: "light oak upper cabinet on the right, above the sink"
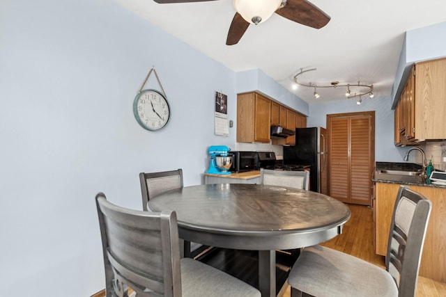
[[416,63],[395,109],[395,145],[446,139],[446,59]]

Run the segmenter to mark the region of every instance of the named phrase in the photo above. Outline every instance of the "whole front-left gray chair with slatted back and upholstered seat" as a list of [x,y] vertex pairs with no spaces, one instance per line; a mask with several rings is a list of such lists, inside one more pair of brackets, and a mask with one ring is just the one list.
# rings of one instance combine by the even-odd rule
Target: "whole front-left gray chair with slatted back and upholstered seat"
[[229,274],[194,259],[180,259],[174,211],[125,209],[108,202],[103,193],[95,201],[107,297],[127,297],[128,287],[139,297],[261,296]]

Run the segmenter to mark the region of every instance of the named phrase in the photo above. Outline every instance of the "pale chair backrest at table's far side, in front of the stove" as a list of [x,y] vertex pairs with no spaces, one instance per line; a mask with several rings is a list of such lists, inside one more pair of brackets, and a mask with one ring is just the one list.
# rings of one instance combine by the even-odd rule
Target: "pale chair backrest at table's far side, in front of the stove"
[[260,168],[260,183],[309,190],[309,171],[271,170]]

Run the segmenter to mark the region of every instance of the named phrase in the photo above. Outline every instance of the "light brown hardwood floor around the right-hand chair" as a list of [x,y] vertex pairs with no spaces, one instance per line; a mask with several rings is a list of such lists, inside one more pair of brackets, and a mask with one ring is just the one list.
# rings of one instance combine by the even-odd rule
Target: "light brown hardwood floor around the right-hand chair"
[[[322,243],[322,246],[340,250],[367,262],[385,268],[385,257],[376,255],[374,251],[374,221],[373,211],[369,207],[348,204],[351,218],[344,225],[342,234]],[[290,297],[288,287],[283,297]],[[446,296],[446,283],[436,282],[429,278],[418,278],[417,297]]]

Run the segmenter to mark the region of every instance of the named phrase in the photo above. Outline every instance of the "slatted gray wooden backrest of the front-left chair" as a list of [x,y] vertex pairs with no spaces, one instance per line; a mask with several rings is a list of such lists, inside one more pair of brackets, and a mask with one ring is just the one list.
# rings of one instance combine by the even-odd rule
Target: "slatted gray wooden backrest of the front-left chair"
[[127,297],[128,287],[137,296],[181,296],[176,213],[125,209],[103,193],[95,200],[107,297]]

